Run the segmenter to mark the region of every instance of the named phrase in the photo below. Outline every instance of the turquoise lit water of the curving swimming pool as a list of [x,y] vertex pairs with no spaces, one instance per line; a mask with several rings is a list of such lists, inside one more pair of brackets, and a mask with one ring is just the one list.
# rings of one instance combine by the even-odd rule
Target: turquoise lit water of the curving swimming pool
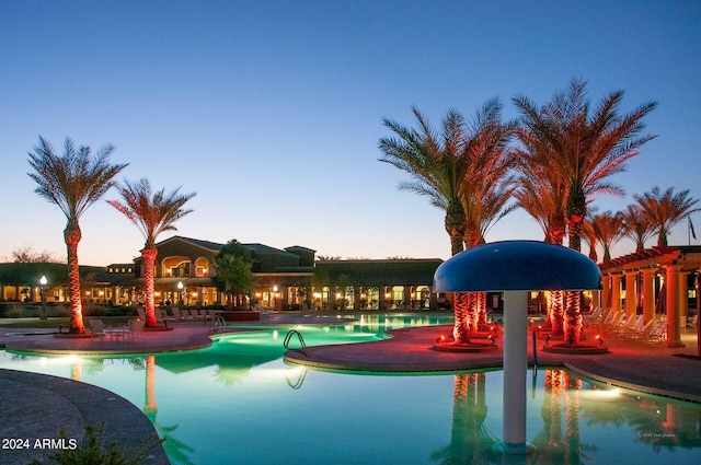
[[173,464],[698,464],[701,405],[611,388],[565,370],[529,372],[528,441],[502,456],[502,372],[335,373],[283,362],[308,345],[374,340],[437,316],[251,328],[202,350],[135,357],[0,352],[0,367],[118,393],[156,425]]

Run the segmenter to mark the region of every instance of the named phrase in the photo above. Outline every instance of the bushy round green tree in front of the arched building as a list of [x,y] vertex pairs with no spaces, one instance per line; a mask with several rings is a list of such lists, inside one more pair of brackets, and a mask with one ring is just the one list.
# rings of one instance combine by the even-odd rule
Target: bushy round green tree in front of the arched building
[[243,298],[255,288],[251,271],[253,254],[237,240],[229,241],[215,257],[215,284],[227,295],[227,307],[242,306]]

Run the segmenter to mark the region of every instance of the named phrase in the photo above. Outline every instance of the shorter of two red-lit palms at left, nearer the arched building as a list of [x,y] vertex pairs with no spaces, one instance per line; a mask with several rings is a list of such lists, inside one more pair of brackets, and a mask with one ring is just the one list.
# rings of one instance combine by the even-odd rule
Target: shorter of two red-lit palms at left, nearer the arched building
[[156,284],[153,268],[158,255],[156,240],[165,231],[175,231],[175,221],[193,211],[183,209],[183,206],[196,194],[180,194],[180,187],[169,194],[165,194],[165,189],[152,193],[151,183],[147,178],[141,178],[136,183],[125,181],[124,185],[117,186],[117,189],[122,195],[123,201],[107,200],[107,202],[136,224],[146,240],[141,249],[143,293],[146,297],[143,310],[146,325],[153,327],[157,325],[156,304],[153,302],[153,288]]

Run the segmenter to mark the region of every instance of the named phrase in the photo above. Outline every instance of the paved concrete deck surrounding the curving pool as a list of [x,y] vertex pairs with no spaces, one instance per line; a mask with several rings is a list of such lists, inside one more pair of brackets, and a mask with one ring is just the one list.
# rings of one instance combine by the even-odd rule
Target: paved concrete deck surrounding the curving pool
[[[330,324],[335,318],[313,322],[300,314],[269,314],[261,322],[246,322],[255,330],[261,325],[300,323]],[[34,334],[31,334],[34,333]],[[142,340],[111,340],[103,338],[56,338],[41,329],[0,328],[0,348],[11,352],[37,353],[154,353],[187,350],[211,344],[210,326],[179,324],[173,330],[145,333]],[[696,334],[682,335],[686,347],[665,348],[660,344],[645,344],[618,338],[606,330],[587,332],[590,337],[601,334],[609,353],[563,354],[541,351],[538,340],[539,367],[565,367],[585,377],[614,386],[632,388],[678,399],[701,403],[701,361],[697,354]],[[221,335],[222,332],[217,333]],[[302,330],[303,334],[303,330]],[[502,367],[502,340],[497,349],[485,352],[445,352],[432,347],[436,338],[450,334],[449,326],[417,327],[390,332],[391,339],[364,344],[321,346],[309,348],[309,357],[299,350],[288,350],[285,360],[325,370],[363,370],[394,372],[437,372]],[[528,358],[532,363],[529,337]],[[297,347],[294,345],[292,347]],[[82,428],[97,421],[107,422],[110,438],[119,437],[138,444],[154,429],[141,410],[126,399],[100,387],[71,380],[13,370],[0,370],[0,440],[48,438],[57,439],[60,429],[72,438],[81,438]],[[72,435],[76,434],[76,435]],[[36,449],[2,450],[3,464],[25,464],[44,457]],[[149,458],[152,464],[168,464],[162,447]]]

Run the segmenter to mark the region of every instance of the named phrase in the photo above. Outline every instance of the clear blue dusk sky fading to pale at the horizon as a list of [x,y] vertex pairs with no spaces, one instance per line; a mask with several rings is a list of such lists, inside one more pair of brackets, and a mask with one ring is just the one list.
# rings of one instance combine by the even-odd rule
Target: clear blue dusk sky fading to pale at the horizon
[[[66,256],[66,219],[27,176],[38,136],[57,151],[66,137],[112,143],[129,164],[118,181],[196,191],[159,241],[448,258],[444,212],[378,161],[382,118],[413,127],[416,106],[438,127],[495,96],[514,118],[515,95],[542,104],[573,78],[593,104],[616,90],[623,112],[659,103],[644,119],[658,137],[611,179],[627,197],[597,198],[599,211],[653,186],[701,198],[699,1],[0,0],[0,261],[21,247]],[[83,265],[143,245],[104,200],[80,224]],[[543,233],[521,210],[486,239]],[[686,222],[669,243],[688,243]],[[623,240],[613,256],[632,251]]]

